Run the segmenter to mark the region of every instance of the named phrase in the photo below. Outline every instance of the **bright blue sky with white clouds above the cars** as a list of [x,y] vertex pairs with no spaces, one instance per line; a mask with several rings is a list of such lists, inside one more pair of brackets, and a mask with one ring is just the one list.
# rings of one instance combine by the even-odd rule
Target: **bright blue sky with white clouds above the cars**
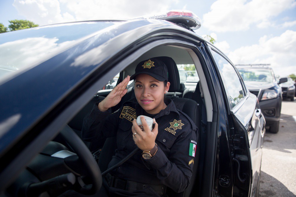
[[128,19],[187,9],[202,20],[198,35],[211,35],[234,64],[271,64],[275,75],[296,75],[296,0],[4,0],[0,23]]

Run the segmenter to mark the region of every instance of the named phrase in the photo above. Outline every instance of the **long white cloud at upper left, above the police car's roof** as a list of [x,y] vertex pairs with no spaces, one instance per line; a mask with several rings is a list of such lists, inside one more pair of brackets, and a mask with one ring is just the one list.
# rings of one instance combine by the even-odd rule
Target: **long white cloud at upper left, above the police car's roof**
[[46,25],[80,20],[128,19],[164,12],[176,3],[178,0],[15,0],[13,6],[28,20]]

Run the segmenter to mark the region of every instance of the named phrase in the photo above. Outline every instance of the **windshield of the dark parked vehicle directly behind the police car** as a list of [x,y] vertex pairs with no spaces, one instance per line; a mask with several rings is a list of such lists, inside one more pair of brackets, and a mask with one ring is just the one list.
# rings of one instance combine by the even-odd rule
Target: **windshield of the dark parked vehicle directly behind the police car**
[[272,70],[264,68],[238,68],[239,74],[245,82],[257,81],[273,83],[275,81]]

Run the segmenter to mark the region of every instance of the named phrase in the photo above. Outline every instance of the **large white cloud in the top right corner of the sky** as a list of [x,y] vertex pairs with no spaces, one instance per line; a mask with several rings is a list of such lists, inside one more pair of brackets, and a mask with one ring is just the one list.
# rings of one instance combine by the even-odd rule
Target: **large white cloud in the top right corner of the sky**
[[211,31],[227,32],[272,26],[270,18],[295,7],[295,0],[217,0],[211,11],[203,15],[203,26]]

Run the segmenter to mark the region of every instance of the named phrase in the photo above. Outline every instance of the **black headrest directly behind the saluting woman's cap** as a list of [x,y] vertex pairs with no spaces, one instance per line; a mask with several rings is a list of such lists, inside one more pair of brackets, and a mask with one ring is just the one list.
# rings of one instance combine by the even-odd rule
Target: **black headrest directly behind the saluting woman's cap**
[[168,81],[170,82],[169,92],[176,92],[180,89],[180,76],[176,62],[167,56],[155,57],[165,63],[168,68]]

